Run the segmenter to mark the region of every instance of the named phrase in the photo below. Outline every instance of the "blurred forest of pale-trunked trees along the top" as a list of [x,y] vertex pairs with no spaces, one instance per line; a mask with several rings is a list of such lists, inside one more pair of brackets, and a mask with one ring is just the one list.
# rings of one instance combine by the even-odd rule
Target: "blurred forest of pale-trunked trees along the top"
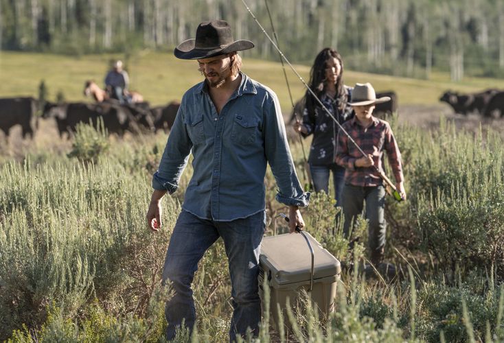
[[[269,23],[263,1],[248,4]],[[268,7],[292,62],[309,64],[313,51],[331,46],[359,71],[428,79],[439,69],[452,80],[504,75],[503,1],[283,0]],[[172,49],[201,21],[221,18],[236,38],[256,43],[246,56],[276,59],[248,16],[234,0],[0,0],[0,48],[77,56]]]

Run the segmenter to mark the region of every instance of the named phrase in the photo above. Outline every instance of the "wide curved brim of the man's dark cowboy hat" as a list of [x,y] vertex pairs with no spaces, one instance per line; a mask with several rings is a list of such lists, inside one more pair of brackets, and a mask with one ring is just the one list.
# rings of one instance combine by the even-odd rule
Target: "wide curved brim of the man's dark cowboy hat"
[[173,54],[176,58],[182,60],[199,60],[200,58],[209,58],[222,54],[229,54],[233,51],[242,51],[252,49],[254,43],[250,40],[236,40],[226,47],[218,47],[216,49],[196,49],[196,39],[184,40],[175,48]]

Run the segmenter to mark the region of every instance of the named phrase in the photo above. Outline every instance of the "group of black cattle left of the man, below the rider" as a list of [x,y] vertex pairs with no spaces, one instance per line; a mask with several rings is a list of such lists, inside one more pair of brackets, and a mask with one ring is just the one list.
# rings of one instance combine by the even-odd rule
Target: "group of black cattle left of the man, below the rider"
[[53,118],[60,136],[67,132],[69,137],[78,123],[91,121],[96,125],[101,118],[109,133],[120,136],[126,131],[134,134],[166,131],[172,127],[179,106],[179,102],[170,102],[166,106],[151,108],[147,102],[122,105],[113,100],[94,104],[46,102],[41,105],[33,97],[0,98],[0,130],[8,137],[10,128],[19,125],[23,138],[33,137],[38,120]]

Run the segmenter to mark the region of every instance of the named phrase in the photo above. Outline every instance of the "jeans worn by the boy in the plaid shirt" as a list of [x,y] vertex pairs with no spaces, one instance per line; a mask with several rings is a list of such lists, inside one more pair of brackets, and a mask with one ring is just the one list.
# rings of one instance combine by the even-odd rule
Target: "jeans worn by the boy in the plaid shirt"
[[367,245],[371,251],[371,263],[379,265],[384,254],[385,233],[385,187],[359,187],[345,184],[343,187],[343,234],[348,237],[350,225],[355,224],[356,217],[363,212],[366,202],[365,217],[369,220]]

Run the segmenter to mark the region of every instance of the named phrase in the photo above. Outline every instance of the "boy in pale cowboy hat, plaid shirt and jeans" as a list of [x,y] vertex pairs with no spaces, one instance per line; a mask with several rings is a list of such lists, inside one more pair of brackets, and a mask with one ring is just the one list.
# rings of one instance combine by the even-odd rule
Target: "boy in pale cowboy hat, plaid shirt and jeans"
[[348,237],[350,225],[355,223],[356,217],[362,213],[365,202],[365,217],[369,220],[368,246],[371,251],[371,263],[376,268],[382,262],[385,253],[386,223],[385,187],[374,166],[383,171],[384,152],[387,152],[398,192],[404,200],[406,199],[401,154],[396,139],[387,121],[373,117],[374,106],[389,100],[390,97],[376,99],[374,88],[369,82],[356,84],[350,103],[354,108],[355,117],[345,122],[343,129],[367,156],[363,156],[341,131],[336,145],[336,163],[345,167],[345,186],[342,195],[345,217],[343,233]]

